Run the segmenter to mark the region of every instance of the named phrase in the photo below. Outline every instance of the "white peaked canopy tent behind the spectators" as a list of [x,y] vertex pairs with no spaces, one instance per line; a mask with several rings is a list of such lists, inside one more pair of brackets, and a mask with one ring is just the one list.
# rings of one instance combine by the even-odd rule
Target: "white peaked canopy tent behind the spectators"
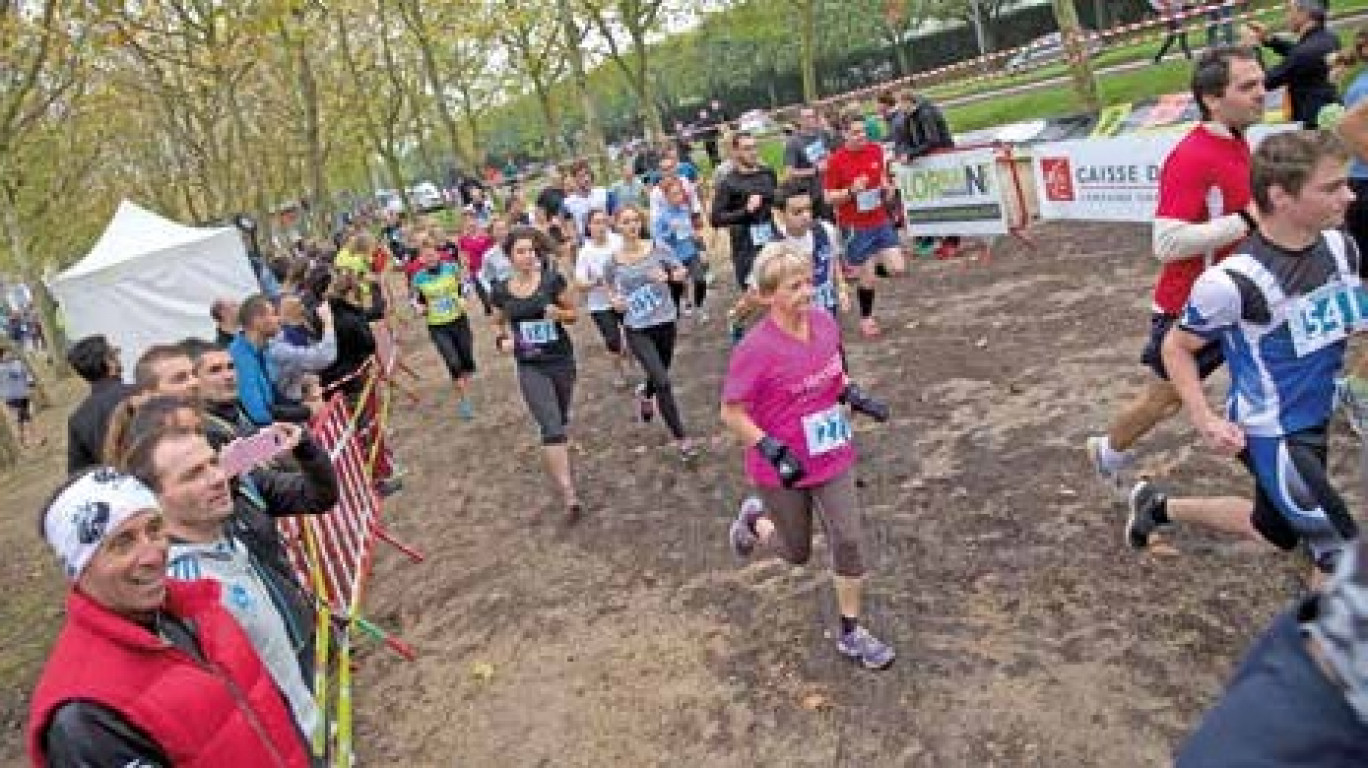
[[67,337],[104,334],[123,371],[153,344],[213,338],[209,304],[261,289],[235,229],[196,229],[124,200],[85,259],[51,282]]

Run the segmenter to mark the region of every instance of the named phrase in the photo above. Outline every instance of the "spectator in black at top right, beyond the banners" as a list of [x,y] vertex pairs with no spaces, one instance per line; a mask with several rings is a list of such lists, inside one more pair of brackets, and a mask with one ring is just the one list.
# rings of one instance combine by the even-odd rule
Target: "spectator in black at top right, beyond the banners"
[[1286,86],[1291,105],[1287,116],[1306,129],[1320,125],[1321,108],[1339,103],[1328,63],[1328,56],[1339,51],[1339,37],[1326,29],[1326,0],[1289,0],[1287,29],[1297,36],[1295,42],[1274,37],[1260,22],[1245,25],[1261,45],[1283,57],[1264,75],[1264,88]]

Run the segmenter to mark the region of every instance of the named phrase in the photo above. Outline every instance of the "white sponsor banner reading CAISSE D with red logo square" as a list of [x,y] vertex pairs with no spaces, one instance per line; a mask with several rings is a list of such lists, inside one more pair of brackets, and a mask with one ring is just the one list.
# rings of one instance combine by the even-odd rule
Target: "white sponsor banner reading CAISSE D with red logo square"
[[[1254,126],[1249,142],[1297,130],[1297,123]],[[1149,131],[1031,146],[1031,175],[1041,219],[1152,222],[1159,171],[1186,131]]]

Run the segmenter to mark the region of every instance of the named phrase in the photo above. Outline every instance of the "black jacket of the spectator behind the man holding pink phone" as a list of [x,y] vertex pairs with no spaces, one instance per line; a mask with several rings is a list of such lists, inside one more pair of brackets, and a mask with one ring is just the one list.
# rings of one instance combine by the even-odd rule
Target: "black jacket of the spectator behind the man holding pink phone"
[[286,631],[295,643],[304,679],[313,669],[313,597],[294,578],[275,517],[321,515],[338,502],[338,479],[327,450],[305,437],[294,449],[298,472],[259,468],[233,483],[233,516],[228,534],[244,545],[261,567],[267,589],[282,611]]

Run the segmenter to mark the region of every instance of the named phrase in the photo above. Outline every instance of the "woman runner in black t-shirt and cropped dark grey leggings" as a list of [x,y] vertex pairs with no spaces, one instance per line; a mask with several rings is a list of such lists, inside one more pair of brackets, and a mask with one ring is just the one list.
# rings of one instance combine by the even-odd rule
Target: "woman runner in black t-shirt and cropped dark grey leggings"
[[542,431],[546,468],[560,486],[565,520],[575,523],[583,508],[570,475],[566,427],[575,394],[575,348],[565,331],[576,320],[575,293],[565,278],[546,270],[555,244],[544,233],[517,227],[505,240],[513,277],[494,286],[490,300],[499,335],[495,348],[513,353],[523,400]]

